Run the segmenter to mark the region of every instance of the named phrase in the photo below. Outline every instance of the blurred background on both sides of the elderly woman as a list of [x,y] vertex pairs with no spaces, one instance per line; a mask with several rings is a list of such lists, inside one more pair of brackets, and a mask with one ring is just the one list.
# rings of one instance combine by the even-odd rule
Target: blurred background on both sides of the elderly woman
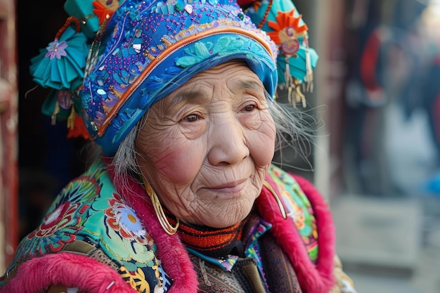
[[[0,274],[53,197],[84,171],[85,141],[41,115],[30,59],[64,1],[0,0]],[[321,119],[306,159],[337,253],[360,293],[440,292],[440,1],[296,0],[320,56],[304,109]],[[32,91],[30,91],[32,89]]]

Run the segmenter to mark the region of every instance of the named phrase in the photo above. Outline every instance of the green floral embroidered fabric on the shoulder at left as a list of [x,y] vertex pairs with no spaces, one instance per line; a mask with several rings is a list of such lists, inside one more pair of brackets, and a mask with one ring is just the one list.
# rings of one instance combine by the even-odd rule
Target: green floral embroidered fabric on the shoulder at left
[[172,285],[153,238],[115,192],[103,164],[94,164],[62,190],[41,225],[20,243],[9,270],[38,256],[69,251],[75,242],[102,250],[108,264],[138,292],[162,286],[166,292]]

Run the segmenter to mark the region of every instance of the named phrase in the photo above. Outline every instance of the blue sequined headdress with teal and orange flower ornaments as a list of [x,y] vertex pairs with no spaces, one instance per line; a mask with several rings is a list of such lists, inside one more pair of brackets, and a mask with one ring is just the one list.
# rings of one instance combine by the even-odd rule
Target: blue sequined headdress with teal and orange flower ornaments
[[[278,78],[296,93],[312,82],[316,54],[295,6],[273,2],[68,0],[66,25],[32,59],[34,81],[53,89],[44,112],[112,156],[150,105],[228,60],[245,60],[271,96]],[[280,17],[273,12],[286,8]]]

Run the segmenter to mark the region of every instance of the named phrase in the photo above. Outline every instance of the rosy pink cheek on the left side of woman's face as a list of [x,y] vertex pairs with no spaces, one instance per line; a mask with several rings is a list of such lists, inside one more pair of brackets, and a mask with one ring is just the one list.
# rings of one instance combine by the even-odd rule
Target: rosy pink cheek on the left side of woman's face
[[154,164],[165,180],[175,184],[188,184],[200,170],[200,151],[194,148],[169,148],[155,157]]

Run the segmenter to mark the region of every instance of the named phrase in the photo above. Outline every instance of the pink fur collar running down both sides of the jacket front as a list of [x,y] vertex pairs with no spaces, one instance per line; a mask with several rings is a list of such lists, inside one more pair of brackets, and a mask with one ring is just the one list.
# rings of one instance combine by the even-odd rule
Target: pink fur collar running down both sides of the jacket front
[[[112,173],[110,172],[110,174]],[[327,293],[335,285],[333,276],[335,227],[333,226],[332,216],[328,205],[318,190],[306,179],[300,176],[292,176],[308,197],[316,216],[319,235],[318,263],[316,265],[310,261],[309,254],[306,252],[295,223],[283,219],[276,200],[273,195],[268,193],[266,188],[263,188],[261,195],[257,198],[257,209],[263,219],[272,223],[271,233],[275,236],[278,245],[289,256],[303,292]],[[274,183],[271,185],[274,185]],[[159,252],[158,257],[162,261],[164,270],[174,279],[174,285],[170,293],[174,293],[175,288],[179,288],[179,292],[197,292],[197,275],[193,270],[192,263],[190,263],[188,252],[186,252],[179,237],[177,235],[169,236],[162,230],[151,204],[145,204],[145,200],[141,200],[142,196],[148,196],[142,185],[133,182],[131,187],[133,193],[127,193],[125,190],[118,191],[122,192],[123,197],[136,209],[138,216],[141,216],[143,221],[148,223],[148,232],[155,239]]]

